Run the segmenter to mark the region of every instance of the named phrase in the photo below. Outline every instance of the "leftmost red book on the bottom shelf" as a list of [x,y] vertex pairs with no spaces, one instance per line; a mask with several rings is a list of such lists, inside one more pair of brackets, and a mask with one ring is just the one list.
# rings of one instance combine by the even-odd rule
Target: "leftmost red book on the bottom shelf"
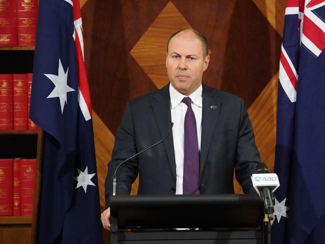
[[0,216],[12,215],[12,158],[0,159]]

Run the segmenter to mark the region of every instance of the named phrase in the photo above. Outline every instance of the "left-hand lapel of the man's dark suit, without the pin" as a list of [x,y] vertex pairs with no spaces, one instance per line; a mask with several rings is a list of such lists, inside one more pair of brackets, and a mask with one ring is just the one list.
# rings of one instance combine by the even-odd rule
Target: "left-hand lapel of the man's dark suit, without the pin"
[[[168,133],[169,125],[171,123],[169,83],[155,93],[151,106],[157,122],[160,137],[162,138]],[[176,182],[176,164],[172,133],[170,133],[162,143],[166,150],[170,169]]]

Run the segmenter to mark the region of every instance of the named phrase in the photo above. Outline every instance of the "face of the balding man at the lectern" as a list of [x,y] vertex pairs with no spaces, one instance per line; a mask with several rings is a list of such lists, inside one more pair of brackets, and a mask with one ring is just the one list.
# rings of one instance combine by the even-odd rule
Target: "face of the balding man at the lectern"
[[183,95],[195,91],[202,82],[209,56],[193,32],[180,32],[169,41],[166,68],[171,85]]

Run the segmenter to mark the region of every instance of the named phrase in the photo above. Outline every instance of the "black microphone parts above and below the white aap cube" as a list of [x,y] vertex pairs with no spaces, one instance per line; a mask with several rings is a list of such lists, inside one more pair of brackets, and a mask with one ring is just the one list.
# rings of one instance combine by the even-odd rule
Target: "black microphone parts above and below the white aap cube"
[[[267,166],[265,163],[259,163],[257,165],[256,173],[269,173],[267,170]],[[273,212],[274,212],[274,194],[269,186],[263,186],[259,190],[260,198],[264,202],[264,210],[265,213],[268,215],[268,219],[273,219]]]

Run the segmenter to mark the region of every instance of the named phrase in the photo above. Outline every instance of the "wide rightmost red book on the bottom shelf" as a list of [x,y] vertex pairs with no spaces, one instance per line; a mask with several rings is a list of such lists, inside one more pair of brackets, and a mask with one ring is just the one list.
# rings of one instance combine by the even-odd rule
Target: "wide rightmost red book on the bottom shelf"
[[34,203],[36,159],[20,159],[20,215],[31,216]]

